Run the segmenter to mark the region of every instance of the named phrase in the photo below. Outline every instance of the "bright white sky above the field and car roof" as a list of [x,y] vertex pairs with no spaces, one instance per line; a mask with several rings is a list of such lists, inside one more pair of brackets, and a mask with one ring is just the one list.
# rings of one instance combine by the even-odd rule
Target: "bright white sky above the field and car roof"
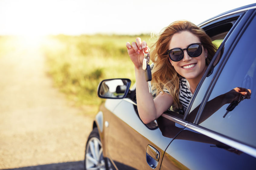
[[199,24],[255,0],[0,0],[0,35],[158,33],[180,19]]

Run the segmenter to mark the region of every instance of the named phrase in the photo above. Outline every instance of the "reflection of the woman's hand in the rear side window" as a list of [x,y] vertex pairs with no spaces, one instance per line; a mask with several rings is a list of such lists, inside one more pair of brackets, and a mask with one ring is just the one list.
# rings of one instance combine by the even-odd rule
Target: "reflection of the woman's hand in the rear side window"
[[225,93],[224,99],[226,100],[226,103],[231,103],[232,101],[238,101],[239,99],[241,99],[242,96],[245,96],[244,99],[250,99],[251,90],[242,87],[236,87],[231,91]]

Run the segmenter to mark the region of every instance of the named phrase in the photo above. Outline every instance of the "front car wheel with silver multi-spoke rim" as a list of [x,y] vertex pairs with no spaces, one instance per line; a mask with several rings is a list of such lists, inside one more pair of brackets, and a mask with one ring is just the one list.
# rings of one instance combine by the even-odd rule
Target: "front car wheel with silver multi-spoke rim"
[[84,165],[86,170],[105,170],[105,159],[102,154],[103,148],[97,128],[90,133],[85,150]]

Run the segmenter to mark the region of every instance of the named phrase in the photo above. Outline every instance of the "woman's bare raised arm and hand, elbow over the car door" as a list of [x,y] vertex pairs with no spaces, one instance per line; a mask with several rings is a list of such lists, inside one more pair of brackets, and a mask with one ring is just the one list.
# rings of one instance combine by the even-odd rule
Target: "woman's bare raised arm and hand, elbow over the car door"
[[168,110],[173,104],[173,99],[169,94],[161,93],[153,100],[152,94],[148,91],[148,84],[144,75],[145,70],[142,69],[143,49],[145,52],[149,51],[147,43],[141,42],[141,39],[137,38],[136,42],[131,44],[127,42],[126,47],[131,61],[134,63],[138,113],[141,120],[147,124]]

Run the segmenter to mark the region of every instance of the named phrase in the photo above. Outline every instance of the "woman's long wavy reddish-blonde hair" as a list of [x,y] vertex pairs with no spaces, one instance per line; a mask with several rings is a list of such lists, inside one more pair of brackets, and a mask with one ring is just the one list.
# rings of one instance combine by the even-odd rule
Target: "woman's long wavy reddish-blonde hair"
[[179,101],[179,79],[182,76],[170,64],[167,50],[169,50],[169,42],[172,36],[182,31],[189,31],[196,35],[203,47],[207,49],[206,66],[209,65],[217,50],[216,46],[212,44],[211,38],[204,30],[189,21],[176,21],[164,28],[157,42],[151,47],[154,48],[150,55],[151,60],[154,62],[151,82],[152,90],[156,95],[164,92],[164,88],[170,92],[170,95],[173,97],[173,110],[182,108]]

